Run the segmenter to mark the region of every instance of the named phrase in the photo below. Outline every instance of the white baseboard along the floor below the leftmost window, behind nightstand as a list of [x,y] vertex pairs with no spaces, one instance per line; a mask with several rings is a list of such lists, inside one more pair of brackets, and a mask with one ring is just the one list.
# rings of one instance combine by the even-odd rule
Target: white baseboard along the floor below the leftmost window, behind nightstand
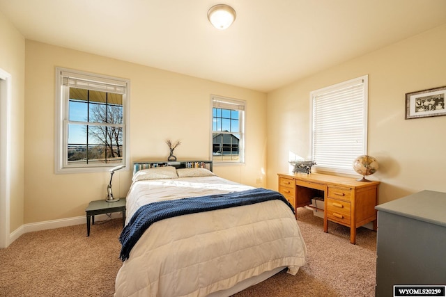
[[[100,220],[107,220],[107,218],[109,217],[106,214],[98,214],[95,216],[95,222],[99,222]],[[111,214],[111,218],[122,218],[122,213],[113,213]],[[61,218],[59,220],[45,220],[38,223],[24,224],[9,234],[9,243],[13,243],[13,241],[22,236],[22,234],[28,232],[36,232],[82,224],[86,224],[86,216],[76,216],[74,218]]]

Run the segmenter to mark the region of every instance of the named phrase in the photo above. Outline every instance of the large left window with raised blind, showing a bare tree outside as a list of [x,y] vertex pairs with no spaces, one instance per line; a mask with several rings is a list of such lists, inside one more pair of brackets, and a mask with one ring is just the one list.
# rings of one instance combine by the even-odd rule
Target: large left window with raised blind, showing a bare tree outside
[[129,83],[56,69],[56,172],[98,171],[128,163]]

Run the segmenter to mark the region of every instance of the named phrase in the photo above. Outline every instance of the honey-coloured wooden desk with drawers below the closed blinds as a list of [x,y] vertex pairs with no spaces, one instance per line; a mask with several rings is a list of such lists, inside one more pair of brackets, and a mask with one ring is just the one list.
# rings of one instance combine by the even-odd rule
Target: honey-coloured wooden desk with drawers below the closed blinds
[[350,242],[356,243],[356,228],[373,221],[376,230],[378,185],[357,182],[351,177],[319,173],[279,173],[279,192],[295,208],[312,204],[312,198],[324,198],[323,231],[328,221],[350,227]]

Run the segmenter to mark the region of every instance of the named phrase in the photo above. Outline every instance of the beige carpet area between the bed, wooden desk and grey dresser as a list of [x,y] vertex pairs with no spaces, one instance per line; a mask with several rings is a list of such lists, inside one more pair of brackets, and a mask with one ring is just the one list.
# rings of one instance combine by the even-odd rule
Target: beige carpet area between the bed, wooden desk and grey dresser
[[307,244],[307,264],[295,276],[282,271],[237,297],[375,296],[375,231],[358,228],[353,245],[350,228],[329,222],[324,233],[323,219],[307,209],[298,209],[298,225]]

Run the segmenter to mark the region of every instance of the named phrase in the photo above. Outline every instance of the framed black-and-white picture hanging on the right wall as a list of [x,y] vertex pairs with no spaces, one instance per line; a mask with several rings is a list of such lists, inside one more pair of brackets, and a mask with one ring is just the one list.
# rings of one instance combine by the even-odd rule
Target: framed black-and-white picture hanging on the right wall
[[446,115],[446,86],[406,93],[406,120]]

